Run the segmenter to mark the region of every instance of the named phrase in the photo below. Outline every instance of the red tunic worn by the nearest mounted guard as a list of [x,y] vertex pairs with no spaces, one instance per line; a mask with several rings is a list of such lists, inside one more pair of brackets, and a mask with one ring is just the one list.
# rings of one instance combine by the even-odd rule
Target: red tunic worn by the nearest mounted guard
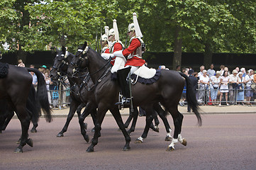
[[[123,50],[123,56],[127,56],[127,55],[137,55],[136,54],[136,49],[140,47],[140,40],[138,40],[137,38],[133,38],[133,40],[130,42],[130,45],[128,48],[126,48],[125,50]],[[134,52],[134,53],[133,53]],[[141,57],[141,56],[140,56]],[[133,56],[132,58],[128,59],[126,62],[126,65],[130,65],[130,66],[143,66],[143,64],[145,64],[145,60]]]

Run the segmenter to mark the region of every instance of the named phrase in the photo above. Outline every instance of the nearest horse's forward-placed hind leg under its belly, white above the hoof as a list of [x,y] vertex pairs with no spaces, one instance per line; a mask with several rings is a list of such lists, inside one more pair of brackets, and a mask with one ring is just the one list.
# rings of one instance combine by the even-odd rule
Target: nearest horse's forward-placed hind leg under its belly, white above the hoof
[[155,111],[153,111],[152,108],[146,108],[146,125],[143,131],[143,135],[138,137],[137,140],[135,140],[135,143],[142,143],[143,139],[145,139],[148,136],[148,130],[150,130],[150,124],[152,123],[152,120],[154,118]]

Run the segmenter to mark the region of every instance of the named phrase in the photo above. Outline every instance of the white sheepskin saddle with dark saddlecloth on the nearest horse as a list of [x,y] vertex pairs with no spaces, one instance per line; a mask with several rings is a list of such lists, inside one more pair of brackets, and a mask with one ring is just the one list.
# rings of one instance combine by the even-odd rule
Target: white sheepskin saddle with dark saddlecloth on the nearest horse
[[160,69],[150,69],[143,65],[130,78],[132,79],[132,84],[135,84],[137,81],[142,84],[153,84],[160,78],[160,75]]

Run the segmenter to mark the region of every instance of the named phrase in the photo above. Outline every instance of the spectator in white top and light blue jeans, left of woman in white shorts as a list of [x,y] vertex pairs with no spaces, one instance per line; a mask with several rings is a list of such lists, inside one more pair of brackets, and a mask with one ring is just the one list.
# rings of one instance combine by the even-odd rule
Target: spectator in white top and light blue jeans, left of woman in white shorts
[[217,71],[215,76],[210,78],[211,81],[211,101],[213,101],[213,105],[217,105],[217,96],[218,96],[218,89],[221,85],[221,72]]

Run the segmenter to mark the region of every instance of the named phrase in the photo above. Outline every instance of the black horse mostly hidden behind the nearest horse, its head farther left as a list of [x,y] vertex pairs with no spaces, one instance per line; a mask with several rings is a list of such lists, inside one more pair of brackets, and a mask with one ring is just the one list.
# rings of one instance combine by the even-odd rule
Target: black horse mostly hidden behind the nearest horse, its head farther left
[[[74,55],[71,52],[67,52],[65,47],[62,47],[62,50],[57,50],[57,55],[55,57],[53,67],[50,72],[50,77],[53,81],[62,81],[62,78],[67,76],[67,69],[69,64],[71,63],[72,58],[74,58]],[[90,96],[90,94],[89,92],[87,92],[86,89],[84,89],[84,86],[81,86],[85,76],[86,74],[79,74],[79,77],[76,78],[67,76],[70,84],[70,97],[72,100],[70,103],[66,123],[62,130],[57,134],[57,137],[63,137],[63,133],[67,132],[68,125],[72,120],[74,113],[77,111],[77,115],[78,117],[80,117],[82,108],[84,108],[84,106],[86,106],[87,104],[87,96]],[[92,81],[89,82],[89,85],[93,85]],[[91,117],[93,118],[93,120],[95,119],[95,114],[96,110],[91,113]],[[87,115],[89,115],[89,113]],[[84,124],[84,122],[81,123],[80,128],[84,140],[89,142],[89,136],[87,135],[87,132],[85,130],[87,129],[87,124]]]

